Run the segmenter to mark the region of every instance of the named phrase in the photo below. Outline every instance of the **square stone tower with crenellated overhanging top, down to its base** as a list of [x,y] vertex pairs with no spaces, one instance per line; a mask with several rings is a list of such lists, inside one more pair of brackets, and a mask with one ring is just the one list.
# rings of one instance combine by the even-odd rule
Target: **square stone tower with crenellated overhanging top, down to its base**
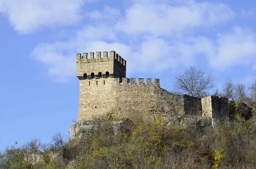
[[76,54],[76,77],[80,80],[78,120],[92,119],[111,111],[114,104],[114,78],[126,76],[126,60],[116,52]]

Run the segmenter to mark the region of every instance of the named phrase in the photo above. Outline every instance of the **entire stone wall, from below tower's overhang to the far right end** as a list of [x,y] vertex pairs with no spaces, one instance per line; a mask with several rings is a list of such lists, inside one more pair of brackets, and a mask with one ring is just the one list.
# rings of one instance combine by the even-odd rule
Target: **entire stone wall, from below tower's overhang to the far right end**
[[[129,83],[128,83],[129,82]],[[90,85],[89,85],[90,83]],[[228,117],[225,98],[176,95],[160,88],[159,79],[100,78],[80,80],[79,118],[112,115],[174,115],[184,113],[216,119]]]

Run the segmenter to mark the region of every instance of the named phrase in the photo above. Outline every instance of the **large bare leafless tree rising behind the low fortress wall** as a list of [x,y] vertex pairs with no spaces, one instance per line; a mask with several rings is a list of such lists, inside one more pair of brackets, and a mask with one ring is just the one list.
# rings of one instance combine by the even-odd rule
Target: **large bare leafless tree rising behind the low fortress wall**
[[202,69],[197,70],[194,66],[175,76],[174,91],[195,97],[209,95],[209,90],[215,86],[212,75],[205,75]]

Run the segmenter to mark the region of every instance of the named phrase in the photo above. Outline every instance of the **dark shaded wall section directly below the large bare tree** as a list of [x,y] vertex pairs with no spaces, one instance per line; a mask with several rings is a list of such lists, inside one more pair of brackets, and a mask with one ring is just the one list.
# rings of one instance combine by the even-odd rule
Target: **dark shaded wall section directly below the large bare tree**
[[202,112],[201,98],[184,95],[184,114],[185,115],[201,115],[201,112]]

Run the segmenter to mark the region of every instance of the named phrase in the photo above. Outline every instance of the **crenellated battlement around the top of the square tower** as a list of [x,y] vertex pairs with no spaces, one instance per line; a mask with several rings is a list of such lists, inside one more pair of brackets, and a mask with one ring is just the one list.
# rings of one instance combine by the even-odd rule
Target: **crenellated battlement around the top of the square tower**
[[123,66],[126,68],[126,60],[124,60],[119,54],[117,54],[115,51],[110,51],[110,54],[108,55],[108,52],[96,52],[96,57],[94,52],[90,52],[89,56],[88,53],[77,53],[76,54],[76,63],[95,63],[95,62],[107,62],[107,61],[114,61],[118,63],[120,66]]

